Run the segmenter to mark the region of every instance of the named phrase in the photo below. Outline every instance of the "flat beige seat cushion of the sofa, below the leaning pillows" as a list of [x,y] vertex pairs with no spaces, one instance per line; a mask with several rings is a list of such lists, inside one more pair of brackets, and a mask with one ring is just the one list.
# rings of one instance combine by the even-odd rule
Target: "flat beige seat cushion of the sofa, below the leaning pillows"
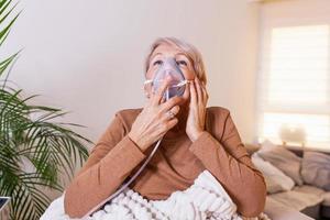
[[270,195],[270,197],[284,206],[301,211],[307,207],[321,204],[323,201],[323,194],[324,191],[317,187],[301,186],[295,187],[290,191]]

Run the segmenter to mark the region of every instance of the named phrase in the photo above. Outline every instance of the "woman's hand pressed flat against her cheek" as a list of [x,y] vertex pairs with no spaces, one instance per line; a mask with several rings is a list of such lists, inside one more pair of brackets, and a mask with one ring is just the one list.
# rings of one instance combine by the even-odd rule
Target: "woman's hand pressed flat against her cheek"
[[205,131],[206,107],[209,96],[206,86],[195,77],[189,84],[190,103],[187,118],[186,133],[195,142]]

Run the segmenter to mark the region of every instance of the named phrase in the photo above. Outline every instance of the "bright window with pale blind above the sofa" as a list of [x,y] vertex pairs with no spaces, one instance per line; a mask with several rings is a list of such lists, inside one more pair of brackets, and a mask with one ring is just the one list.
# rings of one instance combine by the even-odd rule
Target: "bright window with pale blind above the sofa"
[[264,30],[258,138],[330,150],[330,26]]

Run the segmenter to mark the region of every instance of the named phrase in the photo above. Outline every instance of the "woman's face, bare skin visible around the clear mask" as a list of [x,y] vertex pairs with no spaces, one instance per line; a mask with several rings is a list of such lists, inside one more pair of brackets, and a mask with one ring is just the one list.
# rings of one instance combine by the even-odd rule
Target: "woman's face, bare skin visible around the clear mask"
[[[150,58],[148,70],[145,75],[146,79],[153,79],[155,73],[157,72],[162,63],[165,61],[165,58],[168,57],[172,57],[176,61],[186,80],[195,79],[196,75],[191,61],[183,53],[183,51],[167,44],[162,44],[157,46],[156,50],[153,52]],[[152,92],[151,88],[146,88],[146,92],[150,95]],[[185,92],[183,98],[184,102],[182,105],[184,105],[189,99],[189,92]]]

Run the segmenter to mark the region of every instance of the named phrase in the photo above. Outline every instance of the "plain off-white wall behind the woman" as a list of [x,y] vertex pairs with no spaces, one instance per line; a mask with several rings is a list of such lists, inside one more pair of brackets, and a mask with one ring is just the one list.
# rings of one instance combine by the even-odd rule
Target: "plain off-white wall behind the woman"
[[67,122],[97,141],[122,108],[138,108],[143,62],[157,36],[204,55],[210,106],[231,110],[244,142],[254,135],[258,8],[244,0],[29,0],[6,45],[24,48],[11,79],[40,105],[72,111]]

